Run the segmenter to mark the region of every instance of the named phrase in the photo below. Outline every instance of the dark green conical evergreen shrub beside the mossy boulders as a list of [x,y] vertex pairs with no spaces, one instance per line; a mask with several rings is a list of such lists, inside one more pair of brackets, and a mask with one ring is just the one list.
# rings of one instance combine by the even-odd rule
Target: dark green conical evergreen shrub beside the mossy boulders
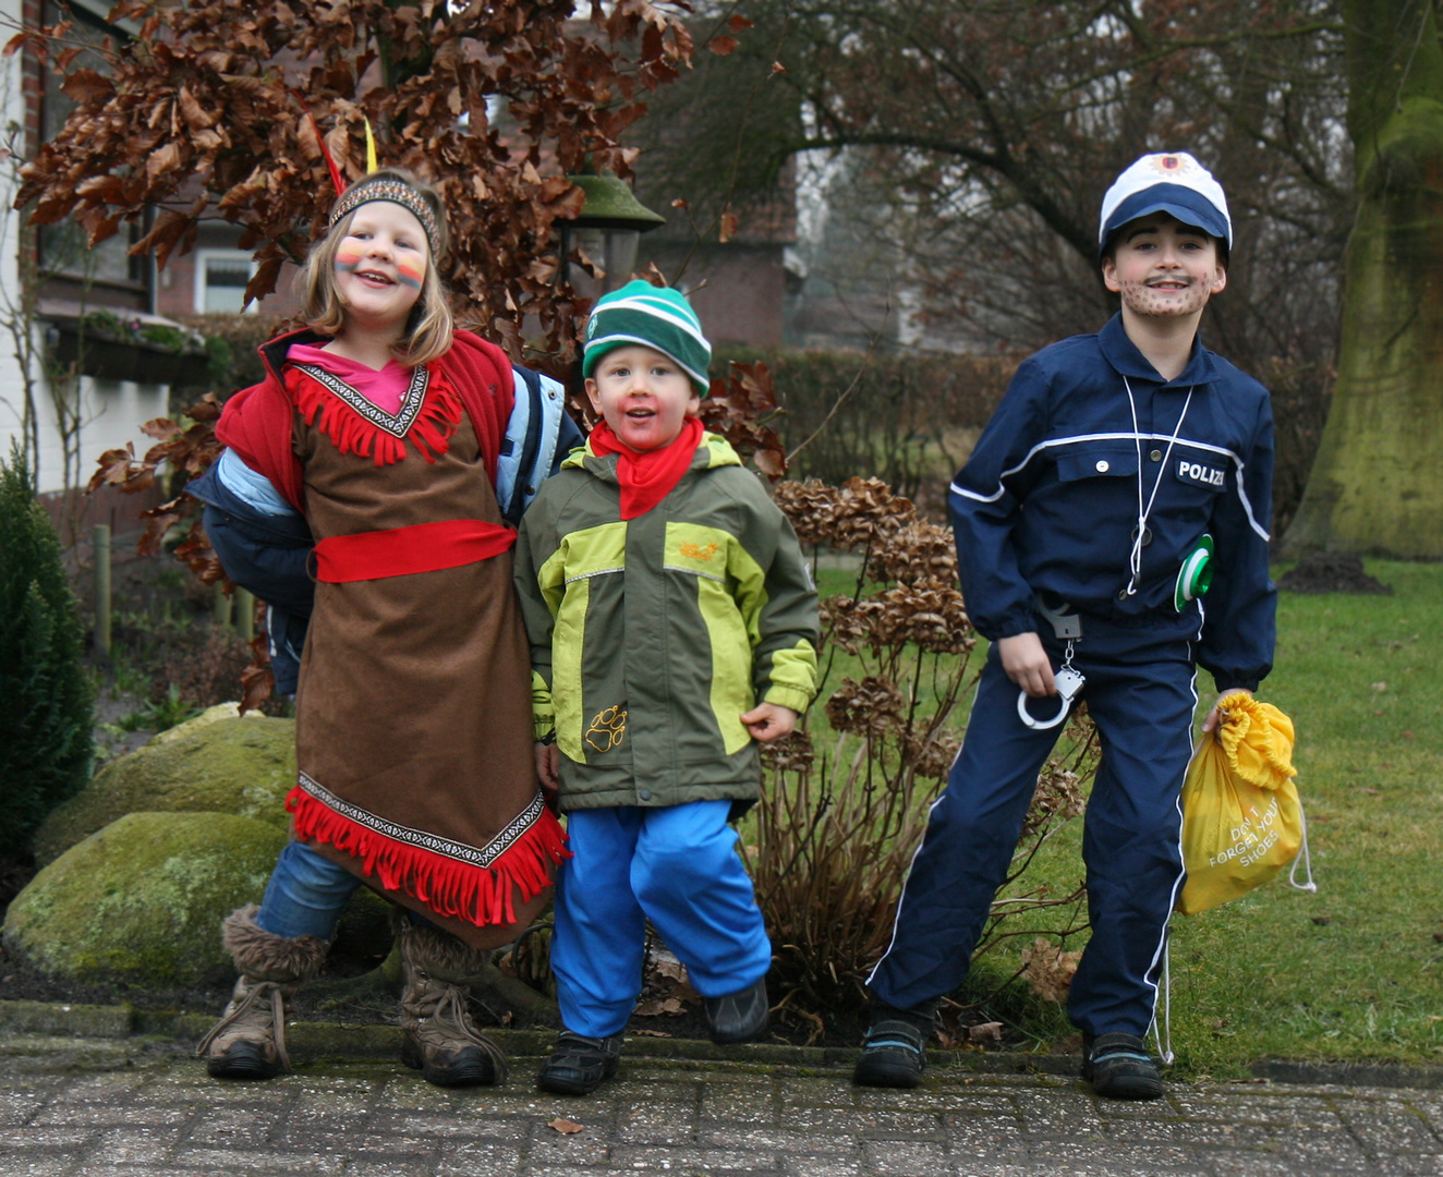
[[19,447],[0,460],[0,857],[89,779],[94,692],[61,541]]

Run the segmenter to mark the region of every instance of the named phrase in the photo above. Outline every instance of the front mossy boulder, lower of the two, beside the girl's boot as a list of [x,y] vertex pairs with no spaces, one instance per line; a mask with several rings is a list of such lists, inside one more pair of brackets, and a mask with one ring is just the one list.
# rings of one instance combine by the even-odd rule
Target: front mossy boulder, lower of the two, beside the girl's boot
[[258,903],[286,831],[232,814],[130,814],[12,902],[4,949],[85,984],[176,988],[234,975],[221,920]]

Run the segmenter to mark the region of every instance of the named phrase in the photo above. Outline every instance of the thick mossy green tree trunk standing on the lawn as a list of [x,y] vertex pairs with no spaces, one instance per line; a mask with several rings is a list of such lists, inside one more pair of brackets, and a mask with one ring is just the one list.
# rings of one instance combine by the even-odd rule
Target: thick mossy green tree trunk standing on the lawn
[[1284,552],[1443,558],[1443,49],[1433,0],[1343,13],[1358,216],[1333,404]]

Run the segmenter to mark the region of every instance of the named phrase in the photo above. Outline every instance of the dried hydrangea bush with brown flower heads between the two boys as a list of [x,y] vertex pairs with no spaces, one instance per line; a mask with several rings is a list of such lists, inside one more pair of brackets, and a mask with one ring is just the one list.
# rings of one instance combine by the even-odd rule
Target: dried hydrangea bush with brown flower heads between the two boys
[[[981,666],[973,665],[977,635],[947,528],[919,518],[877,479],[784,482],[775,495],[804,548],[860,558],[853,591],[821,603],[821,691],[798,731],[763,750],[763,799],[743,839],[776,952],[782,1015],[817,1024],[820,1034],[817,1013],[864,1001],[864,978],[890,939],[903,874],[961,746],[961,702]],[[1036,938],[1038,922],[1023,913],[1055,909],[1056,926],[1046,932],[1056,940],[1081,929],[1081,884],[1055,894],[1045,883],[1029,886],[1026,873],[1082,812],[1095,763],[1091,721],[1074,720],[1059,759],[1039,775],[1010,886],[993,906],[980,953],[1013,936]],[[1069,979],[1063,961],[1046,956],[1043,966],[1042,951],[1030,948],[1006,979],[1022,977],[1056,998]]]

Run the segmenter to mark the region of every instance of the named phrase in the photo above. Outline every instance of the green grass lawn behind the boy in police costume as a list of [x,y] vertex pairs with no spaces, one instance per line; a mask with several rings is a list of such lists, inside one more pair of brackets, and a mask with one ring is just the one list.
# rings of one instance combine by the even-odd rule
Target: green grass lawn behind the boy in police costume
[[[1434,939],[1443,938],[1443,565],[1375,561],[1368,571],[1394,596],[1280,596],[1277,668],[1260,697],[1297,727],[1317,893],[1278,878],[1199,916],[1175,916],[1180,1076],[1235,1076],[1261,1057],[1443,1062],[1443,942]],[[824,591],[837,587],[824,583]],[[981,651],[973,656],[980,666]],[[1199,692],[1206,688],[1199,675]],[[1081,832],[1079,821],[1063,829],[1019,886],[1076,886]],[[1033,917],[1043,930],[1058,923]],[[1009,939],[983,958],[974,995],[1010,975],[1030,940]],[[1020,984],[991,1008],[1043,1050],[1072,1033],[1055,1004]]]

